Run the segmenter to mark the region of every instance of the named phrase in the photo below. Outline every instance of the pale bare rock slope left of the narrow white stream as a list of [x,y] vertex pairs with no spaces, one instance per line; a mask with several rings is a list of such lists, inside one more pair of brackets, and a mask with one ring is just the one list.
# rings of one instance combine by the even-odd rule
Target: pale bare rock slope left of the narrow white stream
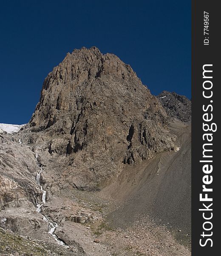
[[13,137],[0,135],[0,210],[20,207],[31,201],[36,205],[40,190],[33,181],[37,167],[34,153]]

